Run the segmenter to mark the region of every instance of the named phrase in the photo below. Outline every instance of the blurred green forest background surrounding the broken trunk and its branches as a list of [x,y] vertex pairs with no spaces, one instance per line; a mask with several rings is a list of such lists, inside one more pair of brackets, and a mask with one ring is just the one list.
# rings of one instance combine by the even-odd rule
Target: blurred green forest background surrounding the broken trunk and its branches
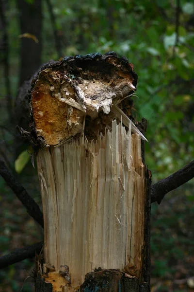
[[[138,74],[134,116],[148,121],[153,183],[194,158],[193,0],[0,0],[0,156],[39,205],[36,170],[15,129],[18,89],[50,59],[107,51]],[[0,219],[1,256],[43,237],[1,178]],[[152,204],[151,255],[152,292],[194,291],[194,180]],[[0,291],[32,292],[33,267],[34,259],[0,270]]]

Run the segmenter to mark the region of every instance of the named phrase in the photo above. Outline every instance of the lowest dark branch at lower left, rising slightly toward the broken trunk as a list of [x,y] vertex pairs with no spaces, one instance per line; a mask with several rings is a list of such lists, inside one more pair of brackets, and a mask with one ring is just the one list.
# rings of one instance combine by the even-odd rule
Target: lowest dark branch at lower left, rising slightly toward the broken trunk
[[18,248],[8,255],[0,257],[0,269],[6,268],[26,258],[32,258],[35,254],[41,252],[43,241],[34,243],[33,245]]

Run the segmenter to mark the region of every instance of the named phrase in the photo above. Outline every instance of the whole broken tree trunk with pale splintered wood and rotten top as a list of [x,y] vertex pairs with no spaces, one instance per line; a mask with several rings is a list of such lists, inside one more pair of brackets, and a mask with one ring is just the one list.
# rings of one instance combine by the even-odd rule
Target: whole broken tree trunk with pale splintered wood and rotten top
[[131,121],[136,83],[133,65],[114,52],[65,57],[32,81],[23,134],[37,153],[45,226],[36,292],[149,291],[150,180],[146,138]]

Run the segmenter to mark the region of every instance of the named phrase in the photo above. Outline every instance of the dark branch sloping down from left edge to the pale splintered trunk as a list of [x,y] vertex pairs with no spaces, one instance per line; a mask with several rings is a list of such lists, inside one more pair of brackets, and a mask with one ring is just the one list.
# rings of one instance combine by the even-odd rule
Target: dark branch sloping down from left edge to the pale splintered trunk
[[0,175],[9,187],[14,191],[17,198],[26,207],[28,214],[44,228],[43,214],[39,206],[29,196],[25,188],[16,181],[15,177],[9,172],[4,162],[0,159]]

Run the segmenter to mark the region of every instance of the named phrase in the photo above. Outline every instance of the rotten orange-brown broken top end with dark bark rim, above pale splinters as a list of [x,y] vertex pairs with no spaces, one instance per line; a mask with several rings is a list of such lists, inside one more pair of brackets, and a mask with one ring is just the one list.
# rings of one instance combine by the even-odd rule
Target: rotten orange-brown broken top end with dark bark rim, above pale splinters
[[[76,55],[51,63],[33,81],[31,129],[35,144],[57,146],[83,131],[89,140],[97,139],[97,132],[104,134],[115,118],[128,127],[129,97],[136,84],[132,64],[114,52]],[[126,99],[129,102],[124,105]],[[133,130],[146,139],[134,125]]]

